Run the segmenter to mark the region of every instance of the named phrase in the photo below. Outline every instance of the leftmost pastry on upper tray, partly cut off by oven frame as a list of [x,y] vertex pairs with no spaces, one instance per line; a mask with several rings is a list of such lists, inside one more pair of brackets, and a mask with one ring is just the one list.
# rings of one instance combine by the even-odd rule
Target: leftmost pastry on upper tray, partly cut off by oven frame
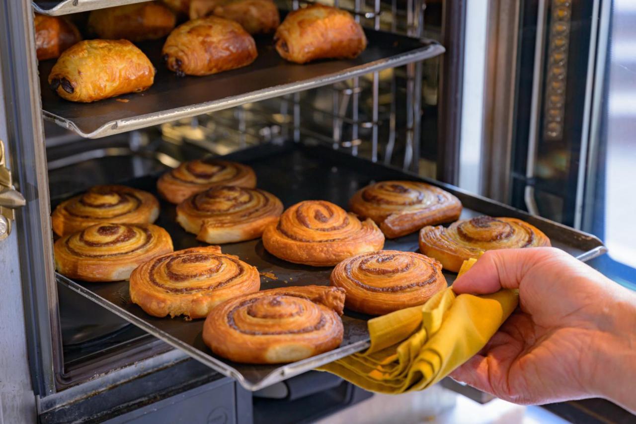
[[81,41],[77,27],[65,18],[36,13],[33,21],[38,60],[57,59],[64,50]]

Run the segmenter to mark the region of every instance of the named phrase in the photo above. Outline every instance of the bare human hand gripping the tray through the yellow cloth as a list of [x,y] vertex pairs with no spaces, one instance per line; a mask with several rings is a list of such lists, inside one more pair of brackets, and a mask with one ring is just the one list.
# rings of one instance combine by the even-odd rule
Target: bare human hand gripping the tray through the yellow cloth
[[636,294],[555,248],[493,250],[455,293],[519,289],[519,307],[451,377],[517,404],[605,397],[636,411]]

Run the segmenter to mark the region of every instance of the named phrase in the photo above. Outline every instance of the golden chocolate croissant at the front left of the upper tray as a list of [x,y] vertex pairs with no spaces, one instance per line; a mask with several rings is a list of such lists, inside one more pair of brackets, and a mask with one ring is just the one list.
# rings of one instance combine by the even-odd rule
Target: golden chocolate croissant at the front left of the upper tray
[[155,67],[126,39],[80,41],[62,53],[48,76],[51,88],[73,102],[141,92],[154,81]]

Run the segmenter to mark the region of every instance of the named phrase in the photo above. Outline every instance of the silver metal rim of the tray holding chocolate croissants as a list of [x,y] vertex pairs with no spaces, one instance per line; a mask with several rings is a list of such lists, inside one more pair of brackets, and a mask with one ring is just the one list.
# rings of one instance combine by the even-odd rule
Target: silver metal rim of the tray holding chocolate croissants
[[364,74],[378,72],[384,69],[411,64],[420,60],[431,59],[432,57],[441,55],[446,51],[446,49],[441,44],[433,39],[420,38],[420,41],[427,44],[420,48],[416,48],[415,50],[399,53],[398,55],[387,57],[385,59],[373,60],[372,62],[368,62],[366,64],[350,67],[345,71],[328,73],[321,76],[316,76],[314,78],[309,78],[307,80],[276,85],[274,87],[266,87],[262,88],[261,90],[249,92],[247,94],[225,97],[224,99],[217,99],[197,104],[191,104],[190,106],[183,106],[181,108],[162,110],[154,113],[148,113],[146,115],[137,115],[136,117],[109,121],[92,132],[81,131],[73,122],[73,120],[68,120],[64,117],[60,117],[55,113],[50,113],[44,109],[42,110],[42,113],[43,117],[46,120],[50,120],[51,122],[60,125],[60,127],[69,129],[79,136],[93,139],[102,138],[106,136],[112,136],[114,134],[120,134],[121,132],[134,131],[153,125],[165,124],[166,122],[172,122],[181,118],[195,117],[197,115],[203,115],[204,113],[211,113],[214,111],[233,108],[235,106],[240,106],[246,103],[272,99],[273,97],[280,97],[286,94],[293,94],[296,92],[310,90],[311,88],[324,87],[325,85],[349,80],[351,78],[355,78],[356,76],[362,76]]

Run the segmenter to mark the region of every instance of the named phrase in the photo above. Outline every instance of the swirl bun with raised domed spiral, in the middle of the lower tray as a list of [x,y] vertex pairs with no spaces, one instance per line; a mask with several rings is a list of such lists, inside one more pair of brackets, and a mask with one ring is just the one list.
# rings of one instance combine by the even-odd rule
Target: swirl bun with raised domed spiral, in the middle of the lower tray
[[330,266],[366,251],[382,250],[384,235],[375,222],[326,201],[304,201],[284,211],[263,232],[272,255],[296,264]]

